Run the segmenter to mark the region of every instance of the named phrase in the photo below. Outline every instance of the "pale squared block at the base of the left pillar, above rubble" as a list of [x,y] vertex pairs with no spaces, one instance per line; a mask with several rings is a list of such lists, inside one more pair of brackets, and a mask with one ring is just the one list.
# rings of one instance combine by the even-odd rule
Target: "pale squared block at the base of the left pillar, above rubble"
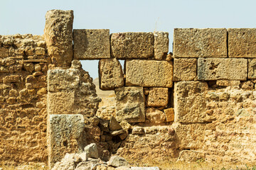
[[82,151],[80,141],[84,128],[83,115],[50,115],[50,165],[60,161],[67,152]]

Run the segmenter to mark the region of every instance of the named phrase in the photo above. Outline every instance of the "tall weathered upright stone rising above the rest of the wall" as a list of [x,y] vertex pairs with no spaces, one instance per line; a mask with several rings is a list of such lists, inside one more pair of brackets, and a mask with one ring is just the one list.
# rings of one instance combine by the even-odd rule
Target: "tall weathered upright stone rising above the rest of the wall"
[[43,37],[48,54],[57,67],[70,67],[73,60],[73,11],[50,10],[46,13]]

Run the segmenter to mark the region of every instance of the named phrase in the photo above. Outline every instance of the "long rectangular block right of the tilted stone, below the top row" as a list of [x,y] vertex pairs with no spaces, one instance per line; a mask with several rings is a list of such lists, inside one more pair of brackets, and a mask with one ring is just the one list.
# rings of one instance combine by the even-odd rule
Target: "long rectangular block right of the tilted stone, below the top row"
[[126,86],[171,87],[173,64],[166,61],[126,60]]

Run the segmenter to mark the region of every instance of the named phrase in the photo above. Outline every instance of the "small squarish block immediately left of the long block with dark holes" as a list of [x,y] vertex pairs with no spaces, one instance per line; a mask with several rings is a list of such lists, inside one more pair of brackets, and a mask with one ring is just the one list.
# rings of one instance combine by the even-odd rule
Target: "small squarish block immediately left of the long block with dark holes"
[[196,78],[197,59],[174,58],[174,81],[190,81]]

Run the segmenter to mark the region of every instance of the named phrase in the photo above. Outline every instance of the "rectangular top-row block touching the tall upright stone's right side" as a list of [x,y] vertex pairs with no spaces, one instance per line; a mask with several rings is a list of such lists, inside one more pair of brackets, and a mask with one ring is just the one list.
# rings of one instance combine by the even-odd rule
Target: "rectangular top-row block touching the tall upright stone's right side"
[[74,30],[74,58],[80,60],[110,58],[110,30]]

